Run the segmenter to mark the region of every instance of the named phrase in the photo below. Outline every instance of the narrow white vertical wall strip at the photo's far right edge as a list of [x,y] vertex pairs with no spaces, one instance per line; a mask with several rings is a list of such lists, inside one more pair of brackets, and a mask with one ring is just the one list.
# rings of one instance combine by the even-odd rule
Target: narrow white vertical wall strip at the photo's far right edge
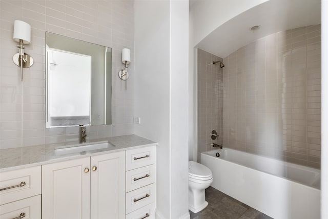
[[328,0],[321,1],[321,218],[328,218]]

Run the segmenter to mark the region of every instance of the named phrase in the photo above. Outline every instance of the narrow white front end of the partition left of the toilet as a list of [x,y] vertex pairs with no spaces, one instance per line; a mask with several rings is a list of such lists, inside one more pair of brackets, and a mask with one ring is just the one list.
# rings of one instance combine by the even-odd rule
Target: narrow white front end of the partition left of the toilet
[[[189,217],[188,198],[188,19],[187,1],[170,5],[171,217]],[[185,134],[186,133],[186,134]]]

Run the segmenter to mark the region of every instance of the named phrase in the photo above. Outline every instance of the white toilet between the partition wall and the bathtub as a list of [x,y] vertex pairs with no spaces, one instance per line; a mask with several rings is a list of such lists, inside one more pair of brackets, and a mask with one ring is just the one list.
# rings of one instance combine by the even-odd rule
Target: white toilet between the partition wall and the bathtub
[[197,213],[206,206],[205,189],[213,182],[212,171],[197,162],[189,162],[189,210]]

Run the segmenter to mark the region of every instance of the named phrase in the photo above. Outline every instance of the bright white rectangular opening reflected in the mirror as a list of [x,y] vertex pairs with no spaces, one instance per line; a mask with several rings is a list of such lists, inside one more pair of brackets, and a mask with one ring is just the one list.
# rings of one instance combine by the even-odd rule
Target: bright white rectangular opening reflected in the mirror
[[47,54],[51,126],[90,124],[91,56],[52,48]]

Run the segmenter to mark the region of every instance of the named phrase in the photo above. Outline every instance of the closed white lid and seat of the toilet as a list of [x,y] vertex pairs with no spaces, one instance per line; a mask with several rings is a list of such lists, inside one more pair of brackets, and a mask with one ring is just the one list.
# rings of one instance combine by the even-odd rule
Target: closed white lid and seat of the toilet
[[212,171],[208,167],[194,161],[189,162],[189,179],[208,181],[212,178]]

